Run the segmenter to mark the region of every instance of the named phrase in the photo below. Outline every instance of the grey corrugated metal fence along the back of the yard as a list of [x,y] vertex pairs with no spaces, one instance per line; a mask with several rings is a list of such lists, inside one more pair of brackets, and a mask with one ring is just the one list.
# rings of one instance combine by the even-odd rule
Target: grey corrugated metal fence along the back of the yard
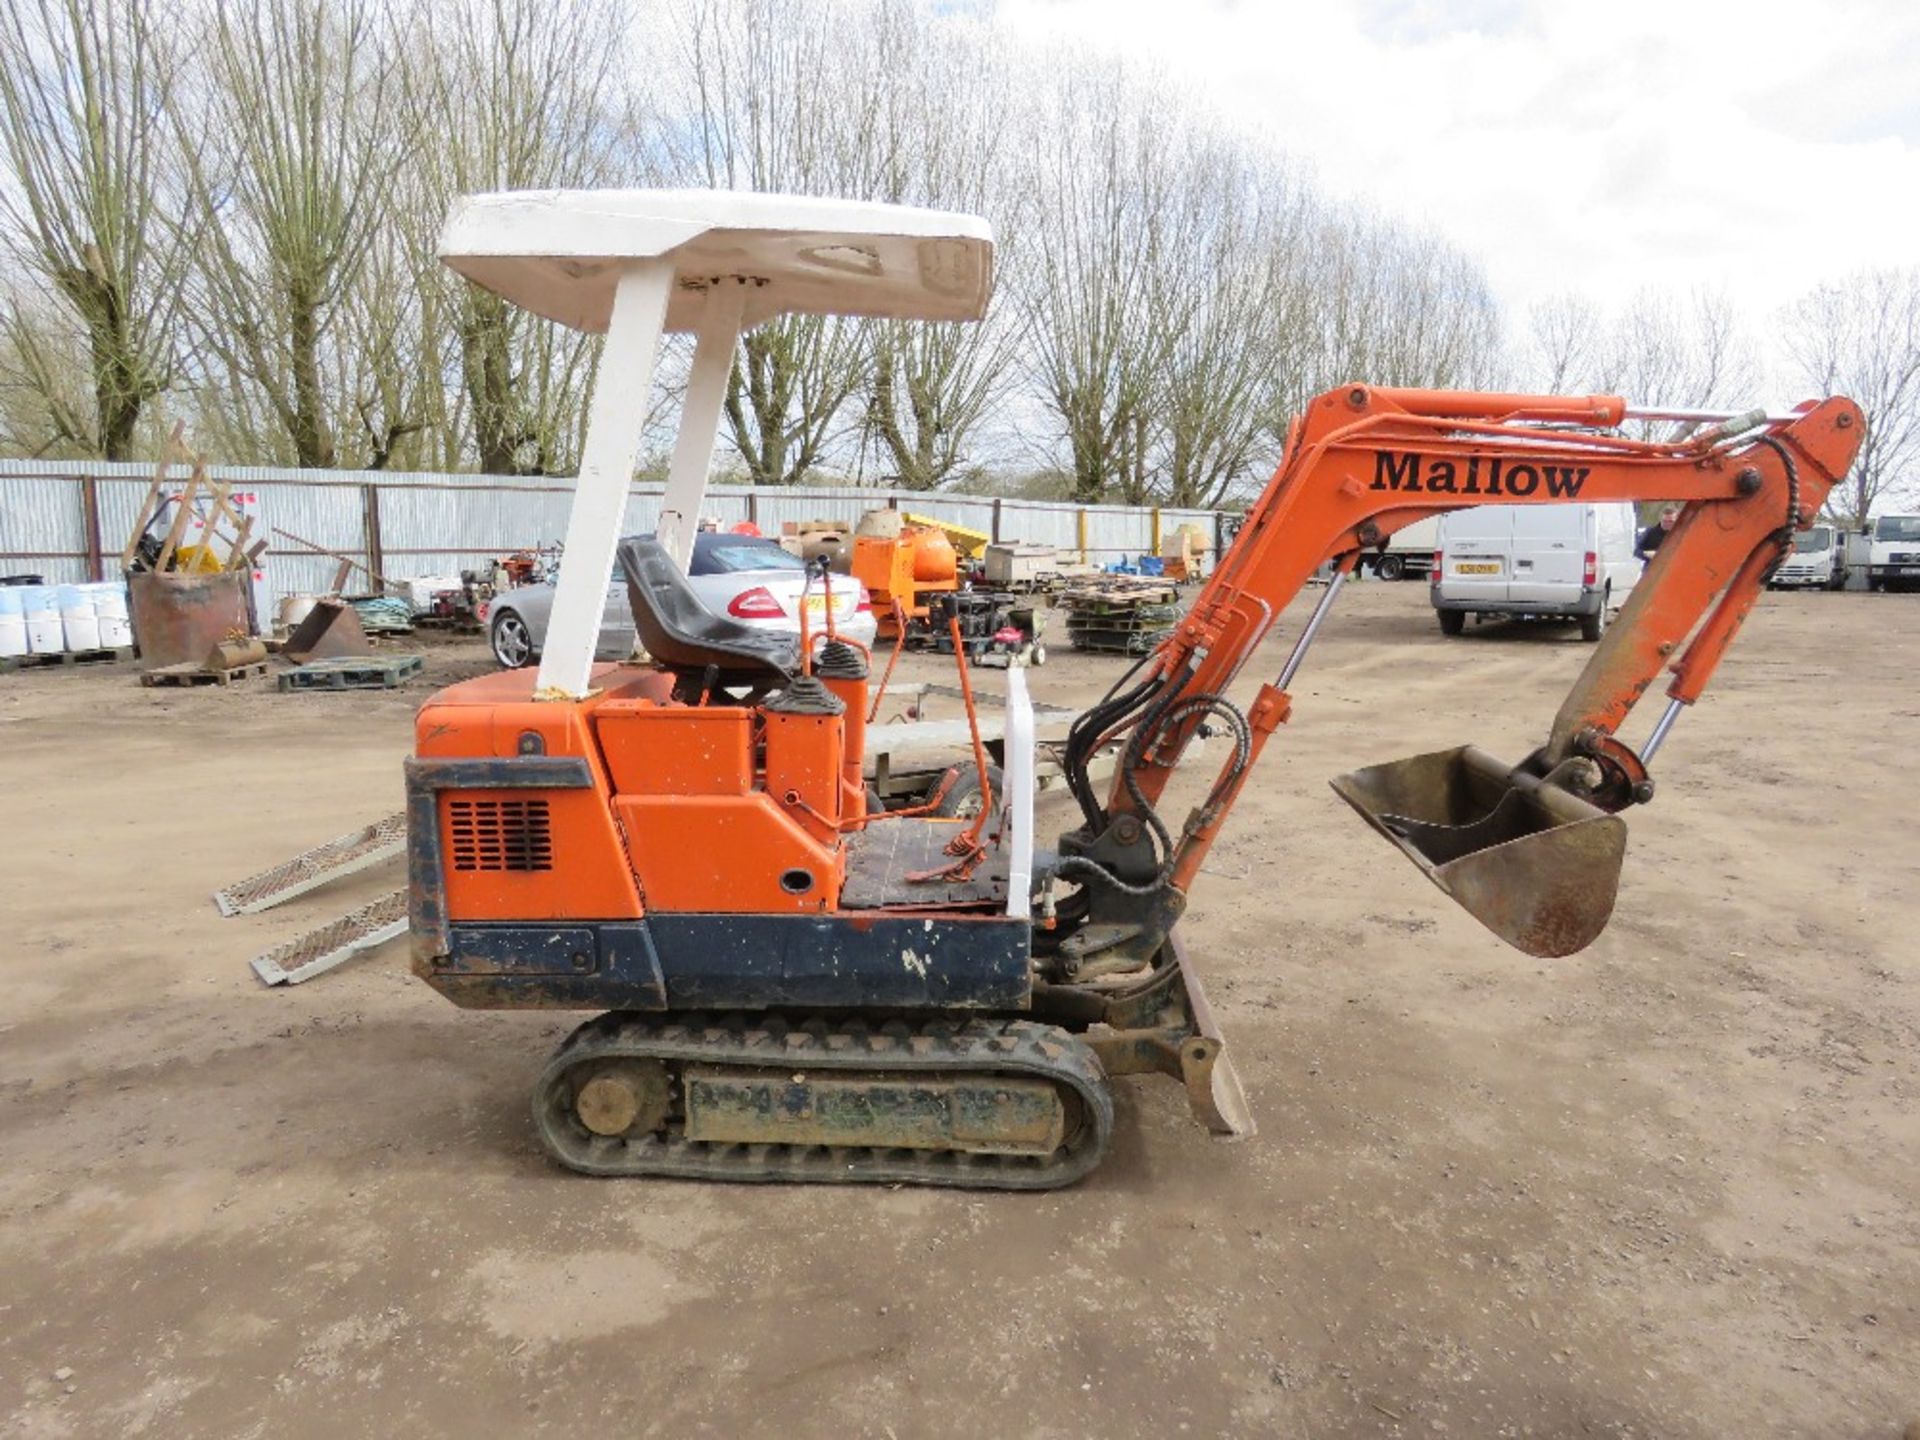
[[[572,495],[568,480],[547,476],[207,468],[255,497],[253,534],[271,543],[265,559],[271,601],[328,588],[340,563],[317,551],[403,580],[457,574],[495,555],[553,543],[566,530]],[[0,461],[0,574],[42,574],[52,584],[117,574],[152,478],[152,465]],[[626,534],[653,530],[659,505],[659,486],[636,484]],[[1198,524],[1219,543],[1213,511],[862,488],[714,486],[707,493],[707,515],[722,528],[753,520],[770,536],[787,520],[852,526],[864,511],[885,505],[972,526],[995,540],[1085,553],[1094,564],[1152,553],[1154,536],[1171,536],[1183,522]]]

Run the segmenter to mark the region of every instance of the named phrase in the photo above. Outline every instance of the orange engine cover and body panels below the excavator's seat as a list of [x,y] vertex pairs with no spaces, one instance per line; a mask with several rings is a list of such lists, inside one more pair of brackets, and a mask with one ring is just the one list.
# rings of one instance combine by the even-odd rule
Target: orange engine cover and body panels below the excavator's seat
[[[630,920],[831,910],[847,874],[845,718],[668,699],[609,668],[584,701],[534,701],[532,672],[422,707],[422,758],[580,756],[591,789],[444,791],[449,920]],[[756,756],[764,751],[764,758]]]

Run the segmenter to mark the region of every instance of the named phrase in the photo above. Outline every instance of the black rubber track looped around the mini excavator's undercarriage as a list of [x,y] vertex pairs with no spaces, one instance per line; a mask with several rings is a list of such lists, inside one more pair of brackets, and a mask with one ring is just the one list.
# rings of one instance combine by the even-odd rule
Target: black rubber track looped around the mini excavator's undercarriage
[[[753,1069],[868,1069],[1039,1075],[1081,1100],[1081,1125],[1052,1156],[996,1156],[897,1146],[722,1144],[676,1131],[639,1137],[589,1133],[572,1112],[566,1073],[607,1058],[735,1064]],[[1052,1190],[1106,1156],[1114,1096],[1091,1048],[1031,1020],[870,1023],[778,1014],[641,1016],[586,1021],[553,1052],[534,1085],[534,1127],[547,1152],[584,1175],[657,1175],[689,1181],[812,1185],[945,1185],[981,1190]]]

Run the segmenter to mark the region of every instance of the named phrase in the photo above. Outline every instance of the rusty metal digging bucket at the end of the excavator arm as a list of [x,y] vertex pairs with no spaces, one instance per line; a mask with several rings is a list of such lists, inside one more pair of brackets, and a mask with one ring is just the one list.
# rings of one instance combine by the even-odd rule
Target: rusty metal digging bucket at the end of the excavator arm
[[1572,954],[1607,927],[1626,822],[1475,745],[1354,770],[1334,791],[1526,954]]

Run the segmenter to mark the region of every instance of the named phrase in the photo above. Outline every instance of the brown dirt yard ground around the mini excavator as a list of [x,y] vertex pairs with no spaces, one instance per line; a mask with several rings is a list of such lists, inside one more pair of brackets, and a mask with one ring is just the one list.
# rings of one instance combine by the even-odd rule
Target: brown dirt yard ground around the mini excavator
[[0,1434],[1899,1436],[1920,599],[1768,597],[1613,927],[1536,962],[1325,780],[1519,758],[1584,657],[1344,595],[1185,922],[1260,1135],[1121,1081],[1106,1165],[1043,1196],[578,1179],[526,1114],[578,1016],[465,1014],[399,945],[261,987],[397,872],[209,893],[397,808],[478,643],[394,695],[4,676]]

